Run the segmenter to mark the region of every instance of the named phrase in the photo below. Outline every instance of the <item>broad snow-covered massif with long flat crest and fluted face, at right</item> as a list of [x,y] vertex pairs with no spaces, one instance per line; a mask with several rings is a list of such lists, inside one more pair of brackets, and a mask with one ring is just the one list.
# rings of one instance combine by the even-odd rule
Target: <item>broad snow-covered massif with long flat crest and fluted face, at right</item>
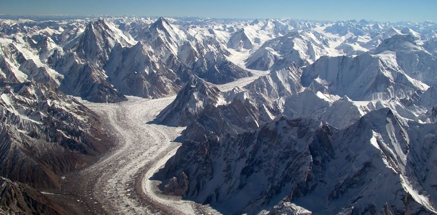
[[369,53],[321,57],[303,69],[302,83],[315,91],[346,95],[353,100],[403,99],[417,90],[426,90],[426,85],[408,77],[390,60],[393,55],[386,57]]

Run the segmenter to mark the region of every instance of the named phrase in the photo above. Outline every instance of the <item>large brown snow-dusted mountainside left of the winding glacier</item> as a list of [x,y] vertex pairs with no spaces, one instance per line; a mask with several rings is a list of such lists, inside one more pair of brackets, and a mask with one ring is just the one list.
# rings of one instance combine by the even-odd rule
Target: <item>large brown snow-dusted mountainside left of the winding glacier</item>
[[110,143],[94,113],[43,84],[3,88],[0,111],[0,174],[33,187],[59,188]]

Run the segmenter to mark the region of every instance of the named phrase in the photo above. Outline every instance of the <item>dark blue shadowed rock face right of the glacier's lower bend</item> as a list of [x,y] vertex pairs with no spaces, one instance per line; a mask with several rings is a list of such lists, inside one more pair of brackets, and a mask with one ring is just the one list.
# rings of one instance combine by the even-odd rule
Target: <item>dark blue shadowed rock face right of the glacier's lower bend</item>
[[[224,213],[254,213],[254,207],[267,204],[278,192],[290,193],[292,190],[288,182],[302,184],[294,189],[293,196],[308,192],[304,182],[310,177],[308,173],[313,167],[311,151],[308,147],[293,146],[303,144],[301,141],[310,145],[314,135],[310,132],[313,131],[310,124],[310,120],[281,118],[254,132],[235,137],[228,135],[221,141],[212,136],[204,142],[186,141],[176,156],[169,160],[164,172],[167,176],[177,172],[187,175],[185,197],[223,205],[227,209],[219,209],[223,209]],[[324,129],[329,131],[328,127]],[[322,138],[325,132],[320,130],[319,136]],[[296,139],[288,139],[290,135],[296,135]],[[319,148],[330,147],[329,142],[325,145]],[[320,149],[314,147],[312,150],[313,153],[325,154]],[[235,201],[239,203],[232,203]],[[248,208],[244,209],[245,206]]]

